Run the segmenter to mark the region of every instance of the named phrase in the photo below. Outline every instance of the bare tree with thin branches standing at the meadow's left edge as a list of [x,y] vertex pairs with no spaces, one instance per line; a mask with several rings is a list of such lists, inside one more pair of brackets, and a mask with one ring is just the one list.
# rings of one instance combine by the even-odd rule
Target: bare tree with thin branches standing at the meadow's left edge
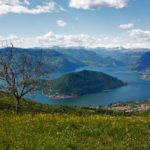
[[20,101],[29,92],[38,90],[37,82],[44,74],[42,50],[36,57],[29,51],[16,52],[13,44],[0,52],[0,80],[3,90],[16,99],[16,111]]

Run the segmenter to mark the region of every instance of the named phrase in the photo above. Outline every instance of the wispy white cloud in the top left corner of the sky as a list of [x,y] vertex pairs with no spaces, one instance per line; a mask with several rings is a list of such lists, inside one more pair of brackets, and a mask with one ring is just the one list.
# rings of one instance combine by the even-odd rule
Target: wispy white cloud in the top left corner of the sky
[[57,12],[59,10],[63,10],[63,8],[52,0],[43,0],[43,4],[35,7],[30,6],[29,0],[0,0],[0,15],[8,13],[41,14]]

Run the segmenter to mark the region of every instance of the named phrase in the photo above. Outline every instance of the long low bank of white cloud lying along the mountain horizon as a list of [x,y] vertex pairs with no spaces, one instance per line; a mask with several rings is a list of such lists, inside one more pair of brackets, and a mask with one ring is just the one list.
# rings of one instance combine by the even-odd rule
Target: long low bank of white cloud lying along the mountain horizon
[[150,49],[150,31],[135,29],[128,31],[128,39],[122,37],[108,37],[100,35],[99,37],[87,34],[60,35],[53,32],[35,36],[35,37],[18,37],[16,35],[0,36],[0,47],[3,43],[12,42],[15,47],[84,47],[84,48],[114,48],[124,47],[130,49]]

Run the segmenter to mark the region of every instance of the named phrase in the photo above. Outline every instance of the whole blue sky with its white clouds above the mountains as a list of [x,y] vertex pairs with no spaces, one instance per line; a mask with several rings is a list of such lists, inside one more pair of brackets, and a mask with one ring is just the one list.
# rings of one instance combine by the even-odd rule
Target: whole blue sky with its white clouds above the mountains
[[150,48],[150,0],[0,0],[0,47]]

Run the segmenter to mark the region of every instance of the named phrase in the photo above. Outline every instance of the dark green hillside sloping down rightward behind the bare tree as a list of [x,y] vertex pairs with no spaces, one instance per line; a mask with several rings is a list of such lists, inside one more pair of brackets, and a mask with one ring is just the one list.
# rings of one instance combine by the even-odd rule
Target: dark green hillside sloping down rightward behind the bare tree
[[[0,92],[0,111],[2,112],[15,112],[15,99],[4,92]],[[31,112],[31,113],[60,113],[60,114],[75,114],[75,115],[93,115],[93,114],[114,114],[114,115],[124,115],[121,113],[116,113],[113,111],[107,111],[102,109],[93,108],[80,108],[73,106],[63,106],[63,105],[47,105],[31,100],[22,99],[20,103],[20,113]]]

